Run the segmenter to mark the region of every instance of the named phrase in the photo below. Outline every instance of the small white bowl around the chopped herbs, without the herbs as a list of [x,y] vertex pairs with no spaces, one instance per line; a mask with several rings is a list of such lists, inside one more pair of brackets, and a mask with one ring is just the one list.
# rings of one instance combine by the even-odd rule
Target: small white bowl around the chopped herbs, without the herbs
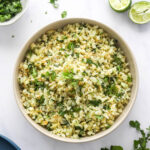
[[21,0],[21,3],[22,3],[22,7],[23,7],[22,11],[20,13],[16,14],[16,16],[14,16],[13,18],[11,18],[10,20],[5,21],[5,22],[0,22],[0,26],[7,26],[7,25],[10,25],[10,24],[13,24],[19,18],[21,18],[21,16],[25,13],[25,11],[28,8],[29,0]]

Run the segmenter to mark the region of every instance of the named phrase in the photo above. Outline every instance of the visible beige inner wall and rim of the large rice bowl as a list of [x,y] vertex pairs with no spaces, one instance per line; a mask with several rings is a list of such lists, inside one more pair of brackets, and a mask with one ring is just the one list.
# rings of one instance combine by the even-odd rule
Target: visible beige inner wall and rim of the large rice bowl
[[[112,36],[113,38],[115,38],[116,40],[118,40],[119,46],[121,47],[121,49],[124,51],[124,54],[126,55],[127,61],[129,62],[129,66],[130,66],[130,70],[131,70],[131,74],[133,77],[133,86],[132,86],[132,91],[131,91],[131,99],[128,103],[128,105],[125,107],[125,109],[123,110],[122,114],[116,119],[115,123],[107,130],[102,131],[97,133],[94,136],[89,136],[89,137],[84,137],[81,139],[70,139],[70,138],[63,138],[63,137],[59,137],[57,135],[52,134],[51,132],[47,131],[46,129],[44,129],[43,127],[41,127],[40,125],[36,124],[25,112],[25,109],[20,101],[20,93],[19,93],[19,85],[17,82],[17,75],[18,75],[18,66],[20,64],[20,62],[24,59],[25,53],[29,47],[29,45],[35,41],[38,37],[40,37],[43,33],[45,33],[46,31],[50,30],[50,29],[58,29],[58,28],[62,28],[64,25],[66,24],[71,24],[71,23],[89,23],[92,25],[98,25],[100,28],[103,28],[106,32],[108,32],[110,34],[110,36]],[[35,35],[33,35],[30,40],[28,40],[28,42],[26,43],[26,45],[24,46],[24,48],[22,49],[16,66],[15,66],[15,70],[14,70],[14,92],[15,92],[15,96],[16,96],[16,100],[17,103],[19,105],[20,110],[22,111],[23,115],[25,116],[25,118],[32,124],[32,126],[34,126],[36,129],[38,129],[40,132],[42,132],[43,134],[52,137],[54,139],[60,140],[60,141],[64,141],[64,142],[72,142],[72,143],[79,143],[79,142],[87,142],[87,141],[92,141],[98,138],[101,138],[107,134],[109,134],[110,132],[112,132],[114,129],[116,129],[122,122],[123,120],[127,117],[129,111],[131,110],[135,98],[136,98],[136,94],[137,94],[137,89],[138,89],[138,72],[137,72],[137,66],[134,60],[134,57],[128,47],[128,45],[125,43],[125,41],[112,29],[110,29],[109,27],[107,27],[106,25],[99,23],[97,21],[93,21],[93,20],[89,20],[89,19],[81,19],[81,18],[71,18],[71,19],[65,19],[65,20],[60,20],[57,22],[54,22],[52,24],[47,25],[46,27],[42,28],[40,31],[38,31]]]

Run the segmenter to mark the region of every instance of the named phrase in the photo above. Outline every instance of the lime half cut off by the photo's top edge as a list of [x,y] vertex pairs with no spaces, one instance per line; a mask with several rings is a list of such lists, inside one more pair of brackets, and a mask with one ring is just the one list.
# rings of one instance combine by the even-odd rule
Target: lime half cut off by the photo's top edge
[[109,0],[111,8],[117,12],[124,12],[131,6],[131,0]]

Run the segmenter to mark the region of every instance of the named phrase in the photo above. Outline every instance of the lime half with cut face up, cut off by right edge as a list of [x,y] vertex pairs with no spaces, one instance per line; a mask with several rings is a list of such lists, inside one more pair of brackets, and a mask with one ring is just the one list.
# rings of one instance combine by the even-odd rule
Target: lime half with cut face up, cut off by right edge
[[130,19],[137,24],[150,21],[150,2],[140,1],[135,3],[129,11]]

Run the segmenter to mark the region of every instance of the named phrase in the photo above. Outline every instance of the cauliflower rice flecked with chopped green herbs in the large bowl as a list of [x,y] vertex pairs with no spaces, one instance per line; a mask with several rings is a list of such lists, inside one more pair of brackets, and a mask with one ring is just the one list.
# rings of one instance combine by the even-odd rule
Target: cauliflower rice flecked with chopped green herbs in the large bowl
[[18,82],[27,114],[53,134],[74,139],[112,126],[132,87],[117,41],[84,23],[50,30],[32,43]]

